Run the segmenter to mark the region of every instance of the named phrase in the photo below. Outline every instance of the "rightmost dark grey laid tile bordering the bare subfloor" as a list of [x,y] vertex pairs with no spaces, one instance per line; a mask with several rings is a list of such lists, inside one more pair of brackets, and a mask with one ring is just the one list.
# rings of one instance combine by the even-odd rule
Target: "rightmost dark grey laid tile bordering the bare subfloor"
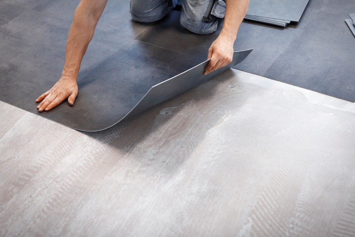
[[355,102],[354,48],[343,15],[320,11],[264,76]]

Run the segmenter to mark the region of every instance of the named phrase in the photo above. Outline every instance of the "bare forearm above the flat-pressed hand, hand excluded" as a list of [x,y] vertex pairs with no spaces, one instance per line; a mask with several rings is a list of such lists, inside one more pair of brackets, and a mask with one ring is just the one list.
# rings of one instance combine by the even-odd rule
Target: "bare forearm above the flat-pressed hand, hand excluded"
[[81,60],[94,35],[95,27],[105,4],[106,1],[84,0],[80,2],[75,10],[66,44],[62,77],[77,79]]

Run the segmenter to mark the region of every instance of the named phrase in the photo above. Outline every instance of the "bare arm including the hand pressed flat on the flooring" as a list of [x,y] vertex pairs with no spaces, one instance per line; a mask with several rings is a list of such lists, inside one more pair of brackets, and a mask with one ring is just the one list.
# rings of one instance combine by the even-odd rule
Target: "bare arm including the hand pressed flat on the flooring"
[[36,102],[41,101],[37,106],[39,112],[48,111],[67,98],[69,104],[74,104],[78,94],[76,79],[81,60],[106,3],[107,0],[81,0],[76,8],[68,34],[61,78],[49,91],[36,99]]

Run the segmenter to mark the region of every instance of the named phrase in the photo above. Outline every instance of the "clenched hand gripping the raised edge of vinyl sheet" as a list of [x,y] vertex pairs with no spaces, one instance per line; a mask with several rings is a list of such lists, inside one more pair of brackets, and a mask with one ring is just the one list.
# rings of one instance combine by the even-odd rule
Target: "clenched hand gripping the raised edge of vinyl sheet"
[[228,36],[218,36],[208,49],[207,59],[211,59],[204,69],[204,75],[222,68],[233,60],[233,41]]

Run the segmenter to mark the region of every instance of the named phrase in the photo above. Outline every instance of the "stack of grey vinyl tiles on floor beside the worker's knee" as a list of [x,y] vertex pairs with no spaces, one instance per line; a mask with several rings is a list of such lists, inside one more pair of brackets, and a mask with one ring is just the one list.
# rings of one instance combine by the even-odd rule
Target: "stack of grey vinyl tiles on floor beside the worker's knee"
[[285,27],[291,21],[298,22],[309,0],[250,0],[244,17],[275,26]]

